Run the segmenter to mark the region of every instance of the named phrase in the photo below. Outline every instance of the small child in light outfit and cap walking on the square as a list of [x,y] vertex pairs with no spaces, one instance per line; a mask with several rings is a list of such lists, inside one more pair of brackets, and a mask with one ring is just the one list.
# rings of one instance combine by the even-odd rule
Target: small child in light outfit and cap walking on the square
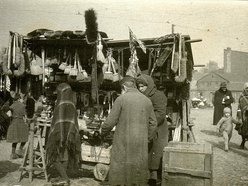
[[233,123],[240,124],[237,120],[231,116],[231,109],[229,107],[224,108],[224,116],[217,123],[217,129],[224,138],[225,151],[228,151],[228,143],[232,137]]

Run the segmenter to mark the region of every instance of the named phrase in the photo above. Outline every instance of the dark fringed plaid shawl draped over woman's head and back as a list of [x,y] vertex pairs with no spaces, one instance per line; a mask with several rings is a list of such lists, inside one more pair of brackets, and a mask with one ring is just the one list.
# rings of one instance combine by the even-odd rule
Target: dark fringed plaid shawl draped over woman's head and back
[[[80,153],[80,136],[77,122],[77,111],[73,102],[71,87],[62,83],[57,87],[57,102],[47,141],[47,162],[56,161],[60,152],[67,148],[75,157]],[[71,157],[71,159],[75,159]]]

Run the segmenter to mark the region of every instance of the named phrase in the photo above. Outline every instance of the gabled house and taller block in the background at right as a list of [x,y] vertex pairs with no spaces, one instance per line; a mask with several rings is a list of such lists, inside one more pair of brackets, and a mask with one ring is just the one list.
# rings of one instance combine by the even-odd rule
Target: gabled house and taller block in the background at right
[[248,52],[234,51],[230,47],[224,49],[223,69],[219,69],[216,62],[209,61],[201,74],[193,74],[191,98],[201,95],[211,103],[221,82],[227,83],[237,102],[244,83],[248,82]]

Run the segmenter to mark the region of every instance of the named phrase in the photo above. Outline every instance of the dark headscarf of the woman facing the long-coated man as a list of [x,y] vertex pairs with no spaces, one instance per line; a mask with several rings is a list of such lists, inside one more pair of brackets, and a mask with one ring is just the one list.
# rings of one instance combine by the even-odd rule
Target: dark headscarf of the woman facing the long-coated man
[[143,84],[145,86],[147,86],[147,89],[145,90],[145,92],[143,92],[143,94],[145,94],[146,96],[151,96],[155,93],[155,91],[157,90],[157,87],[152,79],[151,76],[148,76],[146,74],[141,74],[140,76],[137,77],[136,79],[136,84]]

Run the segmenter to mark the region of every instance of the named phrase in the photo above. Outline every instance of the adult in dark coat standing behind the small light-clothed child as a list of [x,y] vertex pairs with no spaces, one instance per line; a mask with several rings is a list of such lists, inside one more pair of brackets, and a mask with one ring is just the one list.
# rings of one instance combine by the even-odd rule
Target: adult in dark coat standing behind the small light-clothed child
[[229,107],[232,110],[231,104],[234,102],[232,93],[227,89],[227,83],[222,82],[219,90],[215,91],[213,97],[214,105],[214,119],[213,125],[217,125],[218,121],[223,116],[223,110],[225,107]]

